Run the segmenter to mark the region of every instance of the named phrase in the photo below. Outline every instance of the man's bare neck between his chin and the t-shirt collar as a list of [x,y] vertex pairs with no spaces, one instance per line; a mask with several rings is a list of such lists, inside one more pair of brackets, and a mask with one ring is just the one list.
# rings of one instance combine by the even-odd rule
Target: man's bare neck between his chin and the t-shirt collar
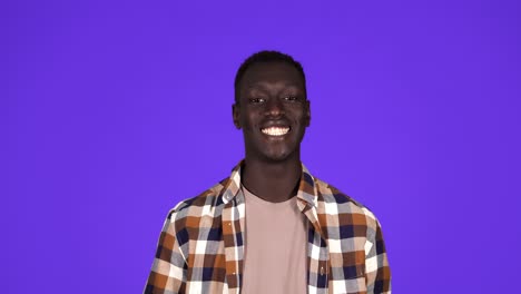
[[296,195],[302,175],[298,158],[266,163],[245,158],[242,182],[256,196],[272,203],[287,200]]

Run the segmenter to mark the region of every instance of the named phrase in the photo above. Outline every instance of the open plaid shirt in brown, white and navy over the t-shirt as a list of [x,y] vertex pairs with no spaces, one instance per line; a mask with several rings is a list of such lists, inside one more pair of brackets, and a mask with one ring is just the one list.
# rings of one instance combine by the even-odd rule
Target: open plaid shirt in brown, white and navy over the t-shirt
[[[245,203],[240,166],[168,215],[145,293],[240,293]],[[309,220],[308,293],[391,293],[379,220],[303,166],[298,209]],[[266,281],[269,283],[269,281]]]

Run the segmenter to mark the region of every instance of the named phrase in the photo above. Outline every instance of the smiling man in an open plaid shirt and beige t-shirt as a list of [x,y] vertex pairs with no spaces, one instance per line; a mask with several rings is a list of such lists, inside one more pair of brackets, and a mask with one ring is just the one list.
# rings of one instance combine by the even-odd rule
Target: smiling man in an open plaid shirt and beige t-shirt
[[168,215],[145,293],[390,293],[375,216],[301,163],[301,63],[260,51],[235,78],[246,156]]

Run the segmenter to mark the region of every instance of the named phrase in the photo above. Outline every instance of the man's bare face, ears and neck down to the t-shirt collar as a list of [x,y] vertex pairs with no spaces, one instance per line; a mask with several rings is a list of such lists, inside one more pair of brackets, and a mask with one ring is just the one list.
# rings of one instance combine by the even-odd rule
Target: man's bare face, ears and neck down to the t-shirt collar
[[245,141],[243,185],[272,203],[295,196],[301,143],[311,120],[298,70],[278,61],[252,65],[240,81],[233,118]]

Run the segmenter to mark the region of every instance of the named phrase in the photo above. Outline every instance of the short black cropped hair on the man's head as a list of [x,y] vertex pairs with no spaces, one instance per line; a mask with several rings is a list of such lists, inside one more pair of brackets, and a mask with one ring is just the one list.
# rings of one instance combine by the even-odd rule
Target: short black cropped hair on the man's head
[[286,62],[298,70],[298,72],[302,76],[302,81],[304,82],[304,91],[306,90],[306,75],[304,75],[304,68],[302,67],[301,62],[296,61],[293,57],[289,55],[275,51],[275,50],[263,50],[258,51],[256,53],[253,53],[244,62],[240,65],[239,69],[237,70],[237,74],[235,75],[235,102],[238,102],[239,100],[239,84],[243,80],[244,74],[246,70],[255,65],[255,63],[260,63],[260,62]]

